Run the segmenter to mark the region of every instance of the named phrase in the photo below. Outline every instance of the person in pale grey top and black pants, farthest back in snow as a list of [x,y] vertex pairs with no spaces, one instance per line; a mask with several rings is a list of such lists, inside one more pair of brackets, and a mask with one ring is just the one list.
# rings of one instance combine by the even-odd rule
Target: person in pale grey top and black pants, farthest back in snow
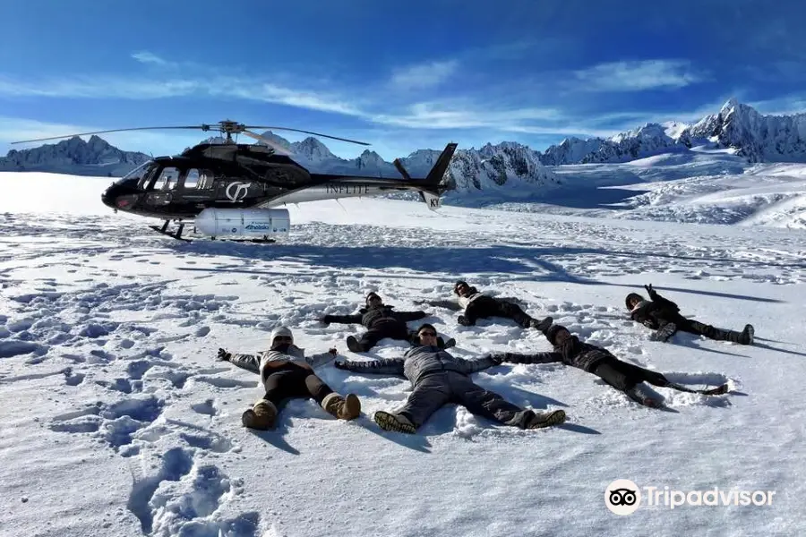
[[544,330],[551,326],[553,319],[546,317],[544,320],[536,320],[527,315],[526,312],[512,299],[495,298],[478,291],[476,287],[467,285],[465,281],[458,281],[453,286],[453,292],[457,295],[457,303],[439,300],[426,302],[432,306],[449,308],[450,310],[461,310],[465,312],[459,315],[457,321],[466,327],[476,324],[476,320],[488,319],[490,317],[503,317],[514,320],[523,328],[537,328]]

